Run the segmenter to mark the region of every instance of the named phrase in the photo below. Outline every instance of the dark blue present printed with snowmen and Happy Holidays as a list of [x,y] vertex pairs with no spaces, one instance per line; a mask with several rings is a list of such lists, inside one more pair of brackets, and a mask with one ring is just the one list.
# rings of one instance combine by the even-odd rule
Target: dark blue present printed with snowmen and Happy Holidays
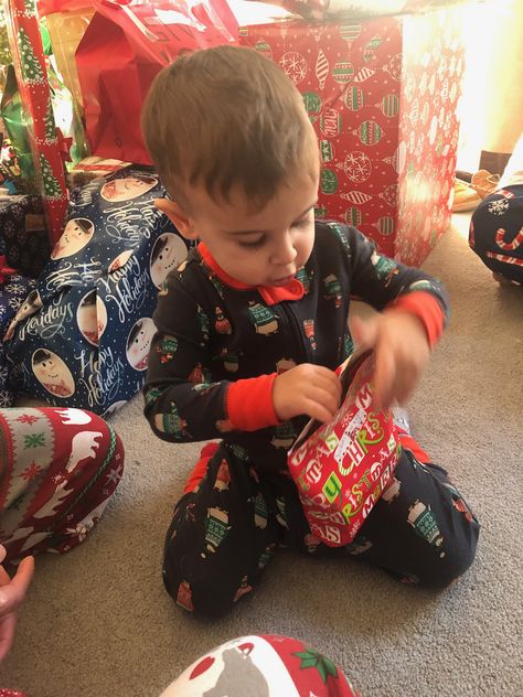
[[188,254],[154,207],[164,195],[154,173],[132,168],[76,194],[4,335],[13,389],[103,416],[141,389],[158,290]]

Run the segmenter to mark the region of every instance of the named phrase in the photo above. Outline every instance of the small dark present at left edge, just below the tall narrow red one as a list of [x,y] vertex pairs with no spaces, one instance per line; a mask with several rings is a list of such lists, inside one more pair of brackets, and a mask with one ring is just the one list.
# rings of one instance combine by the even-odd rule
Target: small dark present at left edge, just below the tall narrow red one
[[0,238],[7,262],[22,276],[38,278],[51,251],[41,196],[0,197]]

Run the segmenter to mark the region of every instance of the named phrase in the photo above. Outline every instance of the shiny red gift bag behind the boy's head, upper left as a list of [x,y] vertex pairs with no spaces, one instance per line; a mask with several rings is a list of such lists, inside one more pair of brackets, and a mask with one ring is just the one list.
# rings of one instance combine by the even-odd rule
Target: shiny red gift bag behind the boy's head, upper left
[[99,0],[76,50],[93,154],[151,164],[140,114],[162,67],[196,49],[235,43],[226,0]]

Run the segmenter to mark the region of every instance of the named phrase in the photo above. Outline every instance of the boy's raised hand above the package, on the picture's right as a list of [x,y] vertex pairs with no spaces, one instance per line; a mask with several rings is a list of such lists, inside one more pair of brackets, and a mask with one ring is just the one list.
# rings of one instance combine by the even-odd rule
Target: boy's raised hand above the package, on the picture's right
[[430,356],[421,321],[410,312],[391,310],[369,320],[354,318],[352,335],[357,345],[374,349],[374,404],[404,404],[414,392]]

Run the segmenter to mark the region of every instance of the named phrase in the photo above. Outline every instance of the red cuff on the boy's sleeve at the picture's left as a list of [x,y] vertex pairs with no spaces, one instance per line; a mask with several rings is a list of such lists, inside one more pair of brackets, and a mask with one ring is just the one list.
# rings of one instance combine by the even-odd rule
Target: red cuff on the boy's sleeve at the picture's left
[[257,431],[280,423],[273,404],[275,378],[276,373],[273,373],[230,385],[226,408],[233,429]]

